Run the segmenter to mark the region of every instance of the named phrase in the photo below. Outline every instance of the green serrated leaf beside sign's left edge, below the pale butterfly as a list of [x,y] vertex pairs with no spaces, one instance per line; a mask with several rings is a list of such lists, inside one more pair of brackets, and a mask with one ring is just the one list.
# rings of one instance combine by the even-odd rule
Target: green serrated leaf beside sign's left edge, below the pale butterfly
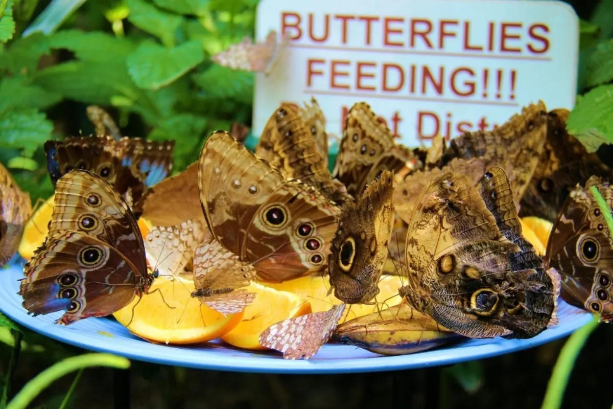
[[193,78],[208,96],[232,98],[246,104],[253,101],[252,72],[237,71],[214,64]]

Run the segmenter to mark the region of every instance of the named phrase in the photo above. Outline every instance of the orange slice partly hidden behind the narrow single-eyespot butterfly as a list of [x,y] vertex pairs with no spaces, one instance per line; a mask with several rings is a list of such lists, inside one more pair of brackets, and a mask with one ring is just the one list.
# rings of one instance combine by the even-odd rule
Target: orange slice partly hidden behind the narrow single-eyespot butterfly
[[[405,280],[406,281],[406,280]],[[295,278],[294,280],[283,281],[283,283],[263,283],[265,286],[272,287],[280,291],[289,291],[297,296],[302,297],[311,303],[313,312],[327,311],[332,305],[341,304],[341,300],[337,299],[333,294],[327,295],[330,288],[330,282],[327,277],[321,275],[308,275],[306,277]],[[384,275],[379,281],[379,294],[376,296],[376,301],[385,303],[387,306],[400,304],[400,296],[398,296],[398,288],[402,286],[402,278],[397,275]],[[354,304],[348,305],[345,308],[345,313],[340,319],[340,323],[358,316],[364,316],[377,311],[377,308],[386,308],[384,305],[365,305]]]

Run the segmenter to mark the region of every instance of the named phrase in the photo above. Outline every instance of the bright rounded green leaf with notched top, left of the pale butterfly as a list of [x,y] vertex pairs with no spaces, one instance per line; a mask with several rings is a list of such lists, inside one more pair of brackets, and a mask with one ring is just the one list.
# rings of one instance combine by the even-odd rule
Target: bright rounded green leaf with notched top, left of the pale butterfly
[[137,86],[158,90],[196,67],[203,60],[204,52],[197,41],[189,41],[170,49],[145,42],[128,56],[126,64]]

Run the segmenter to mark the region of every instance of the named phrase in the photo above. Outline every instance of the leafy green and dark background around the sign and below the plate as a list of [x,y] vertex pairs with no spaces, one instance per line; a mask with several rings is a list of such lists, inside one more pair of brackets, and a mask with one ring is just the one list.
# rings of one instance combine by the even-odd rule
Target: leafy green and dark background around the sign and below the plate
[[[611,140],[613,1],[570,3],[581,18],[581,97],[571,123],[573,129],[591,129],[592,134],[596,129]],[[2,4],[8,7],[0,20],[0,161],[33,201],[53,191],[42,143],[93,132],[85,115],[89,104],[109,110],[124,135],[176,139],[175,170],[196,160],[210,131],[229,129],[232,121],[250,124],[253,75],[216,66],[210,55],[253,36],[257,0],[91,0],[50,36],[22,36],[28,26],[37,25],[36,17],[50,1]],[[3,26],[7,15],[14,30]],[[139,69],[147,63],[160,69]],[[591,112],[600,115],[596,123]],[[12,351],[9,330],[3,330],[0,382]],[[25,341],[13,392],[59,359],[83,352],[30,333]],[[455,367],[398,373],[253,375],[132,362],[132,407],[386,408],[402,402],[407,408],[537,408],[564,342]],[[563,407],[611,407],[611,345],[613,328],[601,325],[579,356]],[[72,379],[57,381],[36,404],[58,407]],[[108,408],[112,393],[112,370],[88,369],[70,406]]]

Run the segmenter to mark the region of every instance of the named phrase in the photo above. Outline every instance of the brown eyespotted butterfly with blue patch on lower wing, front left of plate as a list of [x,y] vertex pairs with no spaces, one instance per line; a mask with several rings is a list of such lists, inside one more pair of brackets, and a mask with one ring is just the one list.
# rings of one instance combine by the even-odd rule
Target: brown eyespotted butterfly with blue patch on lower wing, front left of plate
[[113,186],[77,170],[55,186],[45,242],[24,267],[23,307],[34,315],[66,310],[56,323],[105,316],[147,294],[148,273],[139,226]]

